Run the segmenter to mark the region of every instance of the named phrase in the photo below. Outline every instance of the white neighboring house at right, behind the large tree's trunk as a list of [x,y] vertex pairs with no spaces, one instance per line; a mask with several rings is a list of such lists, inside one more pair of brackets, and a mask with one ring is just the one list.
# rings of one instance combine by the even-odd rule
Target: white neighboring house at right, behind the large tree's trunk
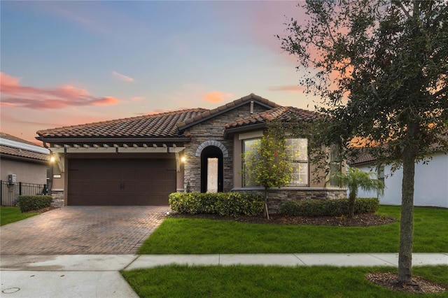
[[[415,164],[414,206],[434,206],[448,208],[448,155],[434,152],[427,164]],[[380,204],[401,205],[402,169],[391,173],[391,166],[375,166],[374,157],[363,153],[350,163],[366,172],[377,173],[386,186],[379,196]],[[358,197],[377,197],[375,192],[358,190]]]

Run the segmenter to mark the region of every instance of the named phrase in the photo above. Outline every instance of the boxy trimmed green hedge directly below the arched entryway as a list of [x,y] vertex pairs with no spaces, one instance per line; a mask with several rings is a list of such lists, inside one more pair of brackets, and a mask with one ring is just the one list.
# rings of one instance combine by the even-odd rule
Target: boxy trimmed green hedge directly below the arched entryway
[[169,194],[169,206],[178,213],[237,216],[262,214],[264,203],[257,194],[174,192]]

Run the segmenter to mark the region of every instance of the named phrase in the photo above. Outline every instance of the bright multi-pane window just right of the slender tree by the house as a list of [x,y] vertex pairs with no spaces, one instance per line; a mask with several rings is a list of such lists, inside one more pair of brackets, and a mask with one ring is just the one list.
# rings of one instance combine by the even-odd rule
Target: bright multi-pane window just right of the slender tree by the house
[[308,185],[308,140],[286,139],[286,158],[293,169],[289,185]]

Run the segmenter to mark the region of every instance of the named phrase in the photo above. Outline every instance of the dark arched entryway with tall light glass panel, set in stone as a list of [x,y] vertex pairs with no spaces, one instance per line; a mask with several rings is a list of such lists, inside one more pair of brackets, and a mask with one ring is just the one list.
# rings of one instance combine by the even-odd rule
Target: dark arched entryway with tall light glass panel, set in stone
[[223,192],[223,151],[207,146],[201,152],[201,192]]

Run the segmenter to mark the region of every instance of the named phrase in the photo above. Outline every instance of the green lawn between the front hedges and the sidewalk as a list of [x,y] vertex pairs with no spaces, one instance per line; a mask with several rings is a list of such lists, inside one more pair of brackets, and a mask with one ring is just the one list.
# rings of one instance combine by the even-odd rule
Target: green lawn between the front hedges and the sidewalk
[[[399,219],[400,207],[379,214]],[[448,252],[448,209],[415,208],[414,253]],[[376,227],[265,225],[229,220],[167,218],[141,254],[398,253],[399,221]]]

